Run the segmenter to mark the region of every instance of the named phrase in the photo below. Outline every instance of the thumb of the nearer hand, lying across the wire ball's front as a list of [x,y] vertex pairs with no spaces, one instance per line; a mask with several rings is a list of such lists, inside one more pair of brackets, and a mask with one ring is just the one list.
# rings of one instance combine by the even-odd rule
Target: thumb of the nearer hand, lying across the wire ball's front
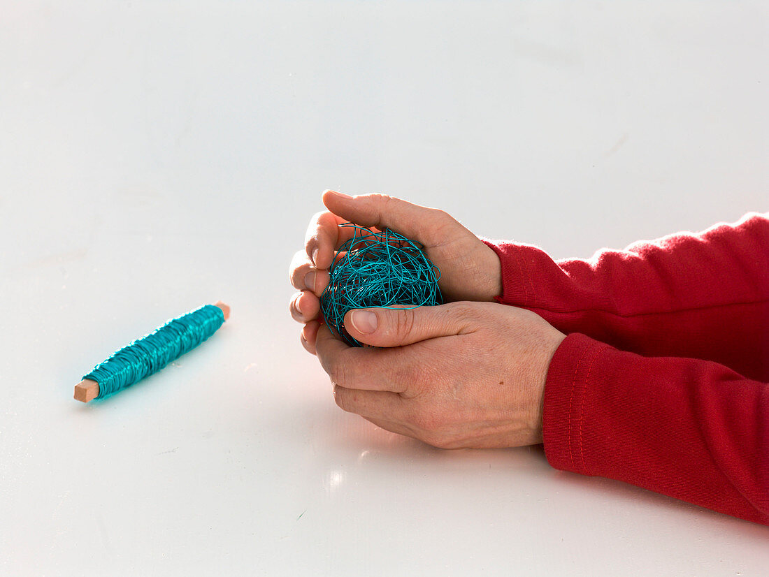
[[437,337],[468,332],[472,321],[467,303],[416,309],[355,309],[345,314],[351,337],[374,347],[400,347]]

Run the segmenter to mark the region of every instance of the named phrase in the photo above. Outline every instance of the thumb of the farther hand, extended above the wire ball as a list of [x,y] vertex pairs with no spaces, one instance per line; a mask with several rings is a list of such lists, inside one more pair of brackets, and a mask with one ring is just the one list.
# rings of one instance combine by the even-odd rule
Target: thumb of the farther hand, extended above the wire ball
[[352,223],[363,227],[390,228],[424,245],[438,244],[438,233],[442,227],[452,222],[459,224],[444,211],[421,207],[386,194],[351,197],[341,192],[325,191],[323,204],[338,217]]

